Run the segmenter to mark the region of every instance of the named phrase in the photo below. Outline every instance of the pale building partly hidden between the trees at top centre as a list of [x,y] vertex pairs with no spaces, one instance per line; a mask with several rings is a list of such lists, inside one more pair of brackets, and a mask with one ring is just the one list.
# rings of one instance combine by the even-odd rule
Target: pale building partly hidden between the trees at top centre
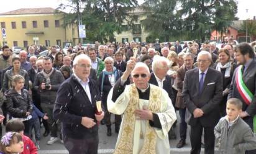
[[[146,42],[149,33],[145,32],[144,27],[140,24],[140,20],[145,19],[145,16],[143,15],[144,13],[145,11],[140,7],[136,7],[133,11],[129,12],[129,16],[137,16],[138,20],[134,22],[134,27],[132,27],[132,29],[129,29],[127,22],[124,22],[122,26],[126,31],[123,31],[121,34],[114,34],[116,42],[125,43],[132,40],[135,42]],[[130,20],[129,17],[127,17],[127,20]]]

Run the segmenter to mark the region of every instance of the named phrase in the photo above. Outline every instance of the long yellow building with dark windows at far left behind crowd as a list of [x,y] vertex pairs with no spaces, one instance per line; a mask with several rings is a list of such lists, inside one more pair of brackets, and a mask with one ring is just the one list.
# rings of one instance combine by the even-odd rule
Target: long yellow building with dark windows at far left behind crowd
[[65,43],[78,43],[78,30],[75,24],[63,26],[65,12],[55,14],[55,9],[30,8],[0,14],[1,29],[6,30],[6,38],[0,35],[0,46],[22,47],[28,45],[65,46]]

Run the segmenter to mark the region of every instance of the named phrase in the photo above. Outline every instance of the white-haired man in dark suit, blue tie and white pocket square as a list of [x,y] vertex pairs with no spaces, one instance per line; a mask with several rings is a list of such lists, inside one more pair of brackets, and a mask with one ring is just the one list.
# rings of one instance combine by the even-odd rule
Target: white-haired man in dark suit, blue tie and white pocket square
[[219,71],[209,68],[211,54],[198,54],[198,68],[186,72],[183,85],[183,99],[191,116],[191,154],[201,151],[201,135],[204,130],[204,153],[214,153],[214,126],[217,124],[219,103],[222,99],[222,77]]

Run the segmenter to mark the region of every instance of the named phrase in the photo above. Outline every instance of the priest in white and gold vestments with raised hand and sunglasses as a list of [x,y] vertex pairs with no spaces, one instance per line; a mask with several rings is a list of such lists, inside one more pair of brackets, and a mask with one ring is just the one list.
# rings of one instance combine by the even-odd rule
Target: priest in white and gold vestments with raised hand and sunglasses
[[[168,131],[176,120],[168,93],[149,84],[145,63],[127,61],[124,75],[107,97],[107,109],[124,114],[114,153],[170,153]],[[134,84],[124,85],[132,76]]]

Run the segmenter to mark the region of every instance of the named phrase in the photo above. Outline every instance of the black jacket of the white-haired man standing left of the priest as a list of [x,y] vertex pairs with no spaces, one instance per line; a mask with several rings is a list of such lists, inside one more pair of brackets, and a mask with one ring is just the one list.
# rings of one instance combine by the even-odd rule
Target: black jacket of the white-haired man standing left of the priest
[[96,101],[101,100],[96,81],[91,78],[89,89],[92,103],[74,75],[66,79],[58,89],[53,118],[62,122],[64,137],[84,139],[98,135],[98,125],[91,129],[81,125],[82,117],[90,117],[96,122]]

